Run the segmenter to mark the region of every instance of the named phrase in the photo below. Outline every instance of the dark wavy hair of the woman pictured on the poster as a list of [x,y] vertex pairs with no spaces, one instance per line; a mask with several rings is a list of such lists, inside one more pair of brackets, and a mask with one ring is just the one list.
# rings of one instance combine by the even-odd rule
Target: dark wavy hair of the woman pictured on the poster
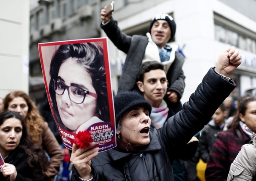
[[78,43],[59,46],[51,59],[49,92],[56,121],[61,128],[66,128],[59,116],[54,90],[54,80],[58,78],[60,66],[68,59],[73,58],[77,64],[84,67],[91,75],[92,85],[97,93],[97,115],[99,119],[110,122],[109,106],[107,100],[106,72],[103,50],[95,43]]

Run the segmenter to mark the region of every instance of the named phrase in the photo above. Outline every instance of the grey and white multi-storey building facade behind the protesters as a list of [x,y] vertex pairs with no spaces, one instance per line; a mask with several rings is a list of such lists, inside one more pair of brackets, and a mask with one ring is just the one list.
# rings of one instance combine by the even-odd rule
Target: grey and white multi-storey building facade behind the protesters
[[[49,0],[30,11],[30,95],[42,99],[44,85],[37,43],[71,39],[106,37],[100,28],[100,10],[107,0]],[[234,98],[244,96],[256,86],[256,7],[255,0],[118,0],[113,18],[128,35],[146,35],[154,14],[165,12],[176,21],[172,43],[178,44],[186,56],[183,71],[186,102],[210,67],[215,66],[219,53],[235,46],[242,55],[242,65],[231,78],[237,83]],[[108,41],[113,92],[117,92],[125,54]]]

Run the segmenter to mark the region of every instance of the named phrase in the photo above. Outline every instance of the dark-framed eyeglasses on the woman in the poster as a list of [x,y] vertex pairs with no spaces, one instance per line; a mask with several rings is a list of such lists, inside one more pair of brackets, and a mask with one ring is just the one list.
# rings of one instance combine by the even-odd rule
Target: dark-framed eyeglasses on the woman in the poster
[[81,89],[77,86],[68,86],[59,79],[54,80],[54,90],[59,96],[63,95],[65,90],[68,90],[69,99],[73,103],[81,104],[84,102],[86,95],[97,98],[96,93],[89,92],[88,90]]

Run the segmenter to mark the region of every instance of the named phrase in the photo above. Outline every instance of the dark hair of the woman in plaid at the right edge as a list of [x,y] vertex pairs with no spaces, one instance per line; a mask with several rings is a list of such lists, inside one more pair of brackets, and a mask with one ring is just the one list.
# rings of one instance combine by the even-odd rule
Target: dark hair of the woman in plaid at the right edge
[[239,101],[238,110],[234,115],[233,121],[229,125],[227,125],[227,128],[232,128],[232,129],[239,128],[239,121],[241,121],[239,114],[245,115],[245,112],[248,108],[248,104],[253,101],[256,101],[255,97],[245,97]]

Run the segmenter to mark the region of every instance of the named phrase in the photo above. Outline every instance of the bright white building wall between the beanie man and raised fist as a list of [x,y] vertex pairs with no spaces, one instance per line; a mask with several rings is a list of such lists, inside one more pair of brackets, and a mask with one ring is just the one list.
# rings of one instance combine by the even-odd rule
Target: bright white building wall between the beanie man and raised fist
[[[186,87],[181,99],[184,103],[209,68],[215,66],[219,54],[230,47],[228,44],[215,41],[213,13],[216,12],[252,32],[256,32],[256,22],[218,0],[175,0],[175,5],[174,16],[177,24],[175,43],[186,45],[183,50],[187,56],[183,66]],[[242,60],[245,53],[249,54],[244,50],[240,52]],[[241,69],[242,66],[238,68]],[[255,81],[253,83],[255,86]],[[246,81],[240,80],[241,93],[250,87],[251,82],[248,81],[248,76]]]

